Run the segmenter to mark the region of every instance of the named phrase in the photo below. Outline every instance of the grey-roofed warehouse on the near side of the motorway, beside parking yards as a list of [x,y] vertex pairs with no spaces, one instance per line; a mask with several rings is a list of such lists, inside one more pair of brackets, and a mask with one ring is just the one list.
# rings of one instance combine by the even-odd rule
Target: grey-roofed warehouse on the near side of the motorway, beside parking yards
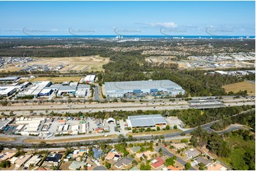
[[130,128],[167,125],[165,118],[162,117],[160,114],[128,116],[128,119],[126,119],[126,123]]

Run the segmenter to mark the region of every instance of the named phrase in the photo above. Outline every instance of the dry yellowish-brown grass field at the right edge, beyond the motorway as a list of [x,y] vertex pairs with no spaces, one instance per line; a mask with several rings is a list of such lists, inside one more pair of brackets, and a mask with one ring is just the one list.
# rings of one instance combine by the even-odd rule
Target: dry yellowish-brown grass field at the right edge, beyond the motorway
[[247,90],[248,95],[255,95],[255,83],[250,83],[248,81],[228,84],[222,87],[226,90],[226,93],[230,91],[237,93],[239,90]]

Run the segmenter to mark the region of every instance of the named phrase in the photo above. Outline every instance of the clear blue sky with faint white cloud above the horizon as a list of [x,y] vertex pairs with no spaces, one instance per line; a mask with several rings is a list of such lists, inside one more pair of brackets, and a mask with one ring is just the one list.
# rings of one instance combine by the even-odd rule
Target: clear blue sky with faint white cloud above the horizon
[[255,1],[0,1],[0,35],[255,35]]

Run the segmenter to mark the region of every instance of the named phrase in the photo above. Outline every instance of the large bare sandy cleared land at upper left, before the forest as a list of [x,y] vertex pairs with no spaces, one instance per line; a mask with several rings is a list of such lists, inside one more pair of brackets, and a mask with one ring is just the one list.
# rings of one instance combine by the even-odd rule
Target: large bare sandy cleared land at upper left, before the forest
[[109,62],[109,58],[99,57],[98,56],[89,56],[89,57],[40,57],[35,58],[34,61],[30,61],[25,66],[16,67],[17,64],[10,64],[0,71],[19,71],[25,69],[28,66],[33,65],[50,65],[52,69],[55,69],[57,66],[64,66],[60,69],[60,72],[69,72],[69,71],[104,71],[102,66]]

